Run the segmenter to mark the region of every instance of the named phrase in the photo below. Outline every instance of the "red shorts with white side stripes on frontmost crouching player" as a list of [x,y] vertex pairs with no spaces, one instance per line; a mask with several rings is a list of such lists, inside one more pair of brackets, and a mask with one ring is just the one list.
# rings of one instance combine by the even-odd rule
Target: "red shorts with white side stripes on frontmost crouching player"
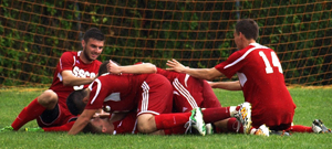
[[173,87],[169,81],[159,74],[149,75],[142,83],[138,93],[137,116],[142,114],[169,114],[173,106]]

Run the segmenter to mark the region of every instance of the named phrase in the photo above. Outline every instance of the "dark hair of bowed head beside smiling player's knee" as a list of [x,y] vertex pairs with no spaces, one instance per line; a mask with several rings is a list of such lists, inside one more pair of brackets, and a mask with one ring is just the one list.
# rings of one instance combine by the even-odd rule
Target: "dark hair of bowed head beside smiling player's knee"
[[85,89],[74,91],[66,97],[66,106],[73,115],[80,115],[85,108],[83,98],[87,95]]

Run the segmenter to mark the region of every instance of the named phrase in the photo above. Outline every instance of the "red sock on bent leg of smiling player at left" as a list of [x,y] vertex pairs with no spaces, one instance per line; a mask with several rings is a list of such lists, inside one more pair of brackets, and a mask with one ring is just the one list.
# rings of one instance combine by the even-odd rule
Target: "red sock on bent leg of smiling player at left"
[[23,125],[38,118],[46,108],[40,105],[35,99],[33,99],[27,107],[22,109],[15,120],[11,124],[14,130],[19,130]]

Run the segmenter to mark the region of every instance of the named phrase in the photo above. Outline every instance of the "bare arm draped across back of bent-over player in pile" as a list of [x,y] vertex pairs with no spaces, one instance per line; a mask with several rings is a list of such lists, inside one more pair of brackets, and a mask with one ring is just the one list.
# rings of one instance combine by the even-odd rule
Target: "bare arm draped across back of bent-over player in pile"
[[113,74],[153,74],[157,72],[157,67],[152,63],[142,63],[136,65],[120,66],[110,60],[110,73]]

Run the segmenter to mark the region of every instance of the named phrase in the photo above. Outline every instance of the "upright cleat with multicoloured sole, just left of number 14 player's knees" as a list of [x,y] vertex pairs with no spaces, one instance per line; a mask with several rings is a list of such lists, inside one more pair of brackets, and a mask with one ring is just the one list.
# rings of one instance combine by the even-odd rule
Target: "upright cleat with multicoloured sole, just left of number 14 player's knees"
[[[243,134],[249,134],[251,129],[251,105],[248,102],[239,105],[240,109],[235,117],[243,126]],[[238,125],[237,131],[239,131],[240,125]]]

